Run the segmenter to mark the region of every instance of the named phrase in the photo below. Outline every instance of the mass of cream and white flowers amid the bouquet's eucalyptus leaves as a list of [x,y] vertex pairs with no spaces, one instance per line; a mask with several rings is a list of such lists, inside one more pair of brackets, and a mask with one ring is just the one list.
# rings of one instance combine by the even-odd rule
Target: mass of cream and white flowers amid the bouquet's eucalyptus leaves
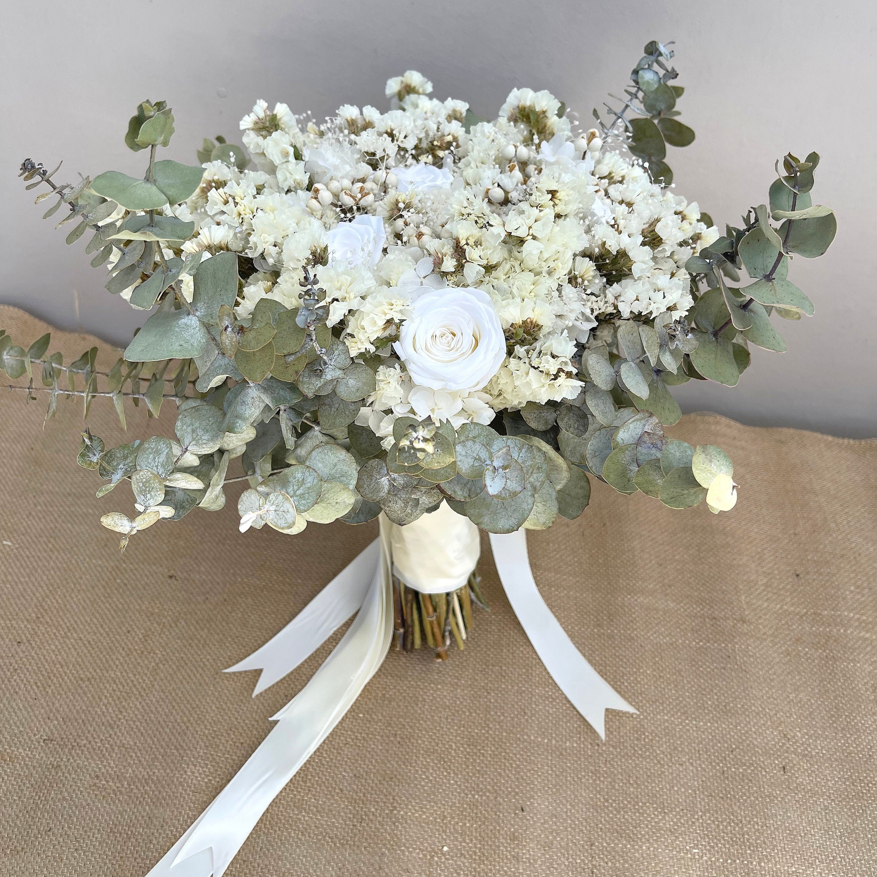
[[[696,203],[660,189],[597,132],[574,132],[548,92],[515,89],[495,122],[467,132],[467,104],[431,89],[409,71],[387,83],[388,112],[345,105],[322,127],[260,101],[240,123],[256,169],[206,164],[175,210],[196,222],[185,250],[252,260],[241,319],[264,297],[296,307],[303,269],[317,276],[351,355],[381,357],[359,422],[388,444],[401,414],[487,424],[497,410],[574,398],[574,359],[591,330],[684,316],[685,263],[718,236]],[[469,389],[424,387],[412,374],[436,363],[415,367],[405,356],[416,346],[398,342],[417,300],[452,287],[471,307],[463,296],[459,312],[437,317],[424,355],[467,374],[453,356],[490,339],[481,360],[499,365]]]

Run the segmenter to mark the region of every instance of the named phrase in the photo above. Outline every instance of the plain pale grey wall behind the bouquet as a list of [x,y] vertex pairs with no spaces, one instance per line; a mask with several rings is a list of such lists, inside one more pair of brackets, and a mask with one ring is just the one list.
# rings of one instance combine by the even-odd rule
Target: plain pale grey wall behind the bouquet
[[[721,225],[766,200],[774,160],[822,154],[815,203],[838,213],[820,260],[791,278],[816,316],[781,322],[784,354],[755,350],[737,388],[689,381],[686,410],[749,424],[877,435],[873,57],[870,0],[111,0],[6,4],[0,60],[0,302],[62,328],[125,343],[144,318],[103,290],[82,241],[40,219],[16,178],[21,160],[64,159],[58,179],[142,161],[124,146],[140,100],[167,99],[176,117],[168,158],[192,162],[204,136],[236,136],[257,97],[311,110],[384,106],[391,75],[416,68],[434,96],[496,114],[514,86],[550,89],[581,118],[624,87],[648,39],[676,41],[682,118],[697,132],[670,160],[676,190]],[[53,165],[52,165],[53,167]],[[65,175],[66,172],[66,175]],[[29,341],[32,339],[25,339]]]

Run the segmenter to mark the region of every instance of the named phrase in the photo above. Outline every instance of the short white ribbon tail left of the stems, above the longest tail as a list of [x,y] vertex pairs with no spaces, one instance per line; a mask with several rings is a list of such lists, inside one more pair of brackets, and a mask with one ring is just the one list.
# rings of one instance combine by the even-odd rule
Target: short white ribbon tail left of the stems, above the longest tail
[[253,697],[310,657],[360,608],[379,565],[380,539],[360,552],[275,637],[225,673],[261,670]]

